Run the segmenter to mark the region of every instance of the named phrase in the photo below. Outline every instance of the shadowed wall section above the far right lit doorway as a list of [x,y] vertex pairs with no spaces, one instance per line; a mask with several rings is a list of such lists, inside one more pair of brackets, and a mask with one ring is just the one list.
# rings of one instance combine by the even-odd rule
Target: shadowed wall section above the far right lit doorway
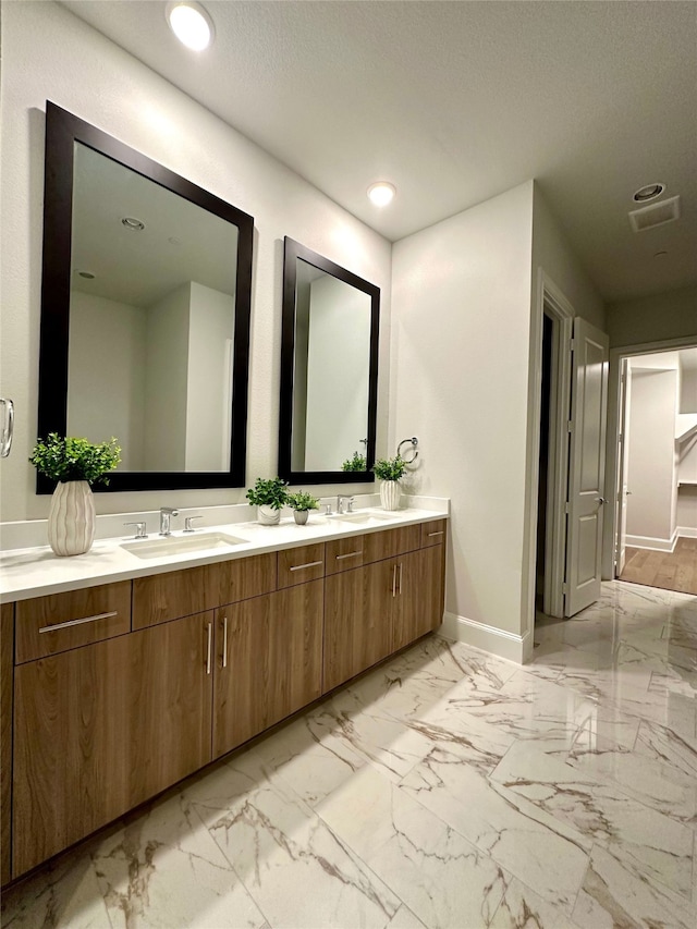
[[697,286],[609,304],[607,331],[611,347],[689,337],[697,342]]

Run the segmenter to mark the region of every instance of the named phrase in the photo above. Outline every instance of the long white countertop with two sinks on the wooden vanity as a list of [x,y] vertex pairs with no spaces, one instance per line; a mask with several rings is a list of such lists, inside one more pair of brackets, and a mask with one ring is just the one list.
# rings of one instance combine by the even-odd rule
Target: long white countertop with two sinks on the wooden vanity
[[[377,508],[372,510],[378,512]],[[74,558],[58,558],[48,546],[3,551],[0,553],[0,602],[27,600],[47,594],[93,587],[96,584],[127,580],[133,577],[248,558],[261,552],[296,548],[341,537],[379,533],[428,519],[447,518],[449,506],[447,500],[431,498],[428,509],[421,506],[390,513],[383,510],[379,512],[382,517],[379,525],[350,523],[332,516],[322,516],[313,511],[305,526],[297,526],[292,516],[283,518],[278,526],[261,526],[258,523],[248,522],[206,526],[197,529],[195,535],[222,533],[243,541],[241,545],[224,549],[204,549],[148,559],[142,559],[122,548],[123,543],[133,543],[132,536],[99,539],[86,554]],[[387,516],[390,518],[384,518]],[[182,533],[175,531],[172,536],[180,537]],[[150,540],[156,538],[158,538],[157,535],[150,535]]]

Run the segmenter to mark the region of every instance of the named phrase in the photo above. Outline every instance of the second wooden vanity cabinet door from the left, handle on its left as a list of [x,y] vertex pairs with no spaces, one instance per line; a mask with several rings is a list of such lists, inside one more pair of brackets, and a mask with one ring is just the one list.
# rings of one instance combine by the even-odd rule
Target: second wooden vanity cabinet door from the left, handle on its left
[[320,696],[322,612],[322,580],[217,611],[215,758]]

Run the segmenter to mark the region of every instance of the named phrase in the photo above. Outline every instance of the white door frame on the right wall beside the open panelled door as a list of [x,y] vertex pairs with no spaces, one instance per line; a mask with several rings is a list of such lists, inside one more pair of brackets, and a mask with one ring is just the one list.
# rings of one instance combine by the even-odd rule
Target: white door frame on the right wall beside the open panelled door
[[545,545],[545,606],[552,615],[564,615],[566,563],[566,488],[568,482],[568,417],[571,413],[571,344],[574,308],[563,291],[545,272],[537,271],[536,300],[530,319],[528,381],[527,481],[523,553],[522,632],[524,660],[533,651],[537,562],[538,481],[542,399],[542,317],[552,320],[550,378],[550,432],[547,482],[547,536]]

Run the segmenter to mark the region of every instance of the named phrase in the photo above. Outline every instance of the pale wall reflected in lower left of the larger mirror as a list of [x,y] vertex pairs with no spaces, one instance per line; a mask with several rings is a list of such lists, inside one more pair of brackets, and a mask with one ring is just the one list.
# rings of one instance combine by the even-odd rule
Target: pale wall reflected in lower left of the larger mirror
[[145,319],[137,306],[71,293],[68,433],[90,442],[118,436],[129,470],[144,461]]

